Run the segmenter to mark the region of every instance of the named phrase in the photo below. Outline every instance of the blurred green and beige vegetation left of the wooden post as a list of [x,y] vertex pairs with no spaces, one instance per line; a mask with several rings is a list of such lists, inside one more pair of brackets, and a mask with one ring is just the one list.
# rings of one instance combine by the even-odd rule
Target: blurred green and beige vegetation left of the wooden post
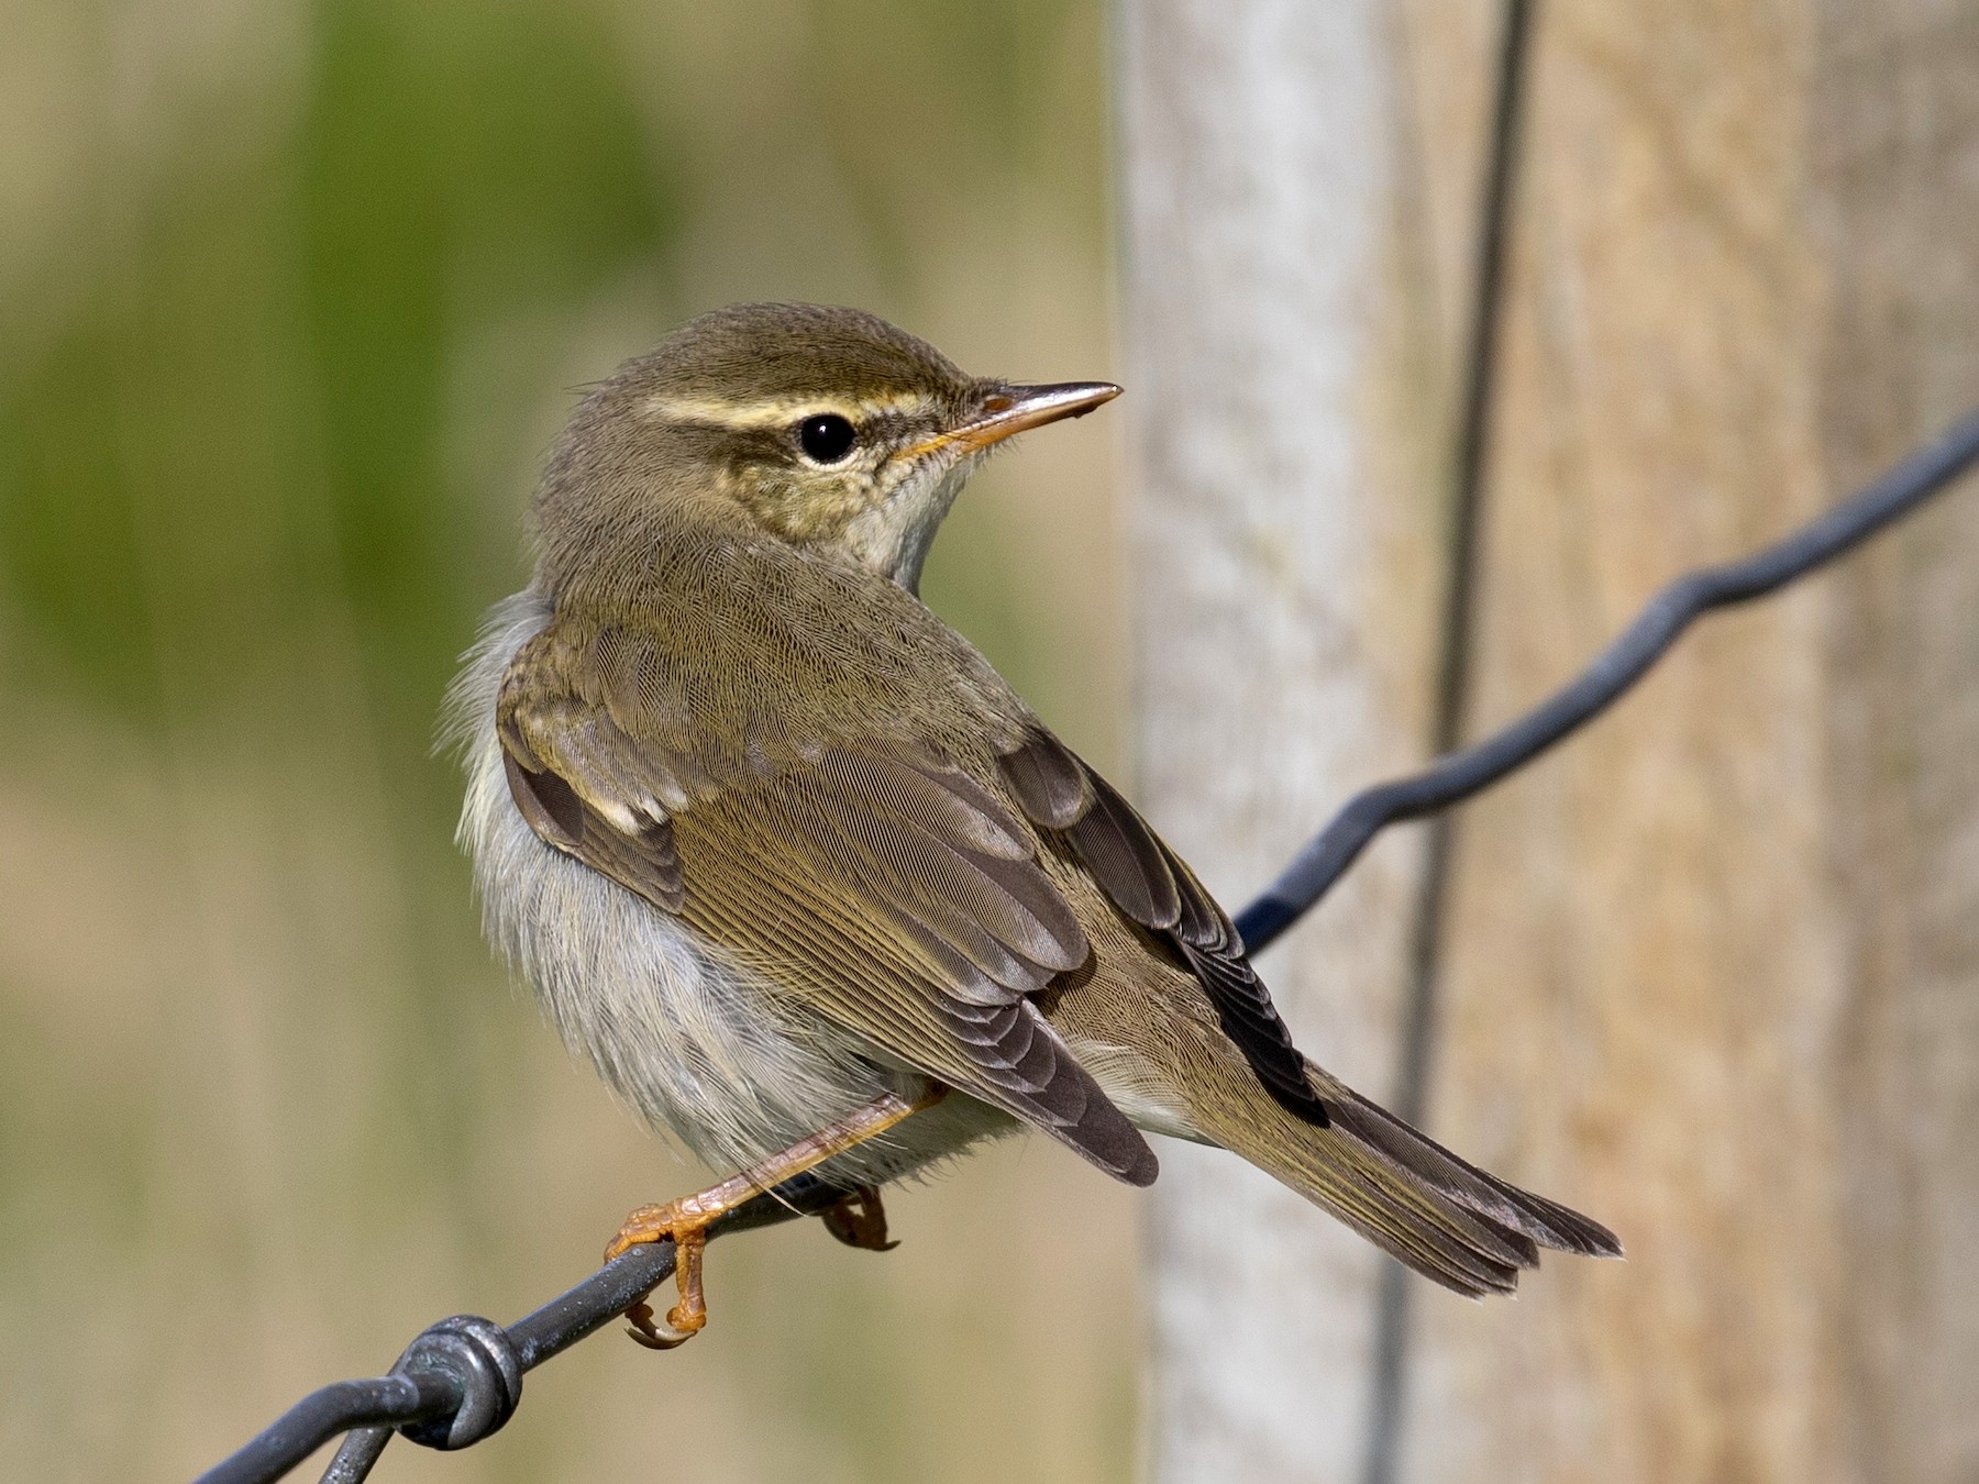
[[[0,1456],[178,1476],[685,1189],[479,944],[433,714],[574,388],[734,299],[1100,376],[1096,0],[14,0],[0,57]],[[1106,419],[930,602],[1118,766]],[[1011,1146],[889,1258],[716,1249],[394,1478],[1124,1478],[1132,1203]]]

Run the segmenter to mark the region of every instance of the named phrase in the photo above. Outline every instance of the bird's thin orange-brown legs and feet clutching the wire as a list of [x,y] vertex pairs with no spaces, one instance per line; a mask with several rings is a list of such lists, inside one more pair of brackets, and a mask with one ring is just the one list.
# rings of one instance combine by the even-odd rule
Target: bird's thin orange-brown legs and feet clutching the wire
[[[934,1086],[912,1102],[895,1092],[883,1092],[873,1098],[873,1102],[855,1108],[839,1122],[798,1140],[782,1154],[772,1154],[768,1159],[758,1165],[750,1165],[740,1175],[730,1175],[720,1185],[710,1185],[705,1191],[683,1195],[681,1199],[667,1201],[665,1205],[641,1205],[625,1217],[625,1225],[619,1227],[617,1237],[613,1237],[612,1245],[606,1247],[606,1262],[629,1247],[671,1241],[675,1251],[673,1278],[681,1292],[681,1302],[667,1310],[663,1324],[653,1320],[653,1306],[643,1300],[625,1310],[625,1318],[631,1320],[631,1338],[651,1349],[673,1349],[708,1322],[708,1306],[701,1294],[701,1252],[708,1243],[708,1225],[716,1217],[734,1211],[750,1197],[782,1185],[794,1175],[801,1175],[805,1169],[821,1165],[835,1154],[845,1154],[871,1138],[879,1138],[902,1118],[908,1118],[922,1108],[932,1108],[942,1100],[944,1092],[946,1088]],[[861,1189],[857,1197],[849,1199],[863,1201],[865,1195],[867,1191]],[[871,1207],[865,1207],[865,1211],[871,1215],[861,1215],[859,1221],[869,1223],[877,1219],[879,1241],[885,1243],[887,1221],[885,1215],[879,1213],[877,1191],[873,1193]],[[831,1223],[827,1221],[825,1225],[829,1227]],[[867,1227],[867,1231],[871,1227]],[[831,1231],[833,1235],[839,1235],[837,1227]]]

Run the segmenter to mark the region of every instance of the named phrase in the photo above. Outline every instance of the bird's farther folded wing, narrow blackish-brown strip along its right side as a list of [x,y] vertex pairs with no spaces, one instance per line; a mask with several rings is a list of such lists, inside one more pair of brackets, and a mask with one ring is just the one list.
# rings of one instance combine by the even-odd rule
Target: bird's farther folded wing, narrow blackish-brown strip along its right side
[[1312,1090],[1306,1059],[1245,958],[1237,928],[1134,805],[1043,726],[1003,756],[1003,780],[1035,825],[1065,837],[1120,912],[1181,956],[1271,1096],[1324,1128],[1326,1102]]

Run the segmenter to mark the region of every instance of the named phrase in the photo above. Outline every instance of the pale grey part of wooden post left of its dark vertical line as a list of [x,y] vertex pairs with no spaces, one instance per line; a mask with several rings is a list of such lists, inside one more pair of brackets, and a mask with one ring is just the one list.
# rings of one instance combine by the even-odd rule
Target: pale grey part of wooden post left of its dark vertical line
[[[1367,0],[1122,8],[1140,770],[1225,900],[1421,752],[1441,588],[1437,261],[1393,16]],[[1375,849],[1263,970],[1310,1055],[1385,1090],[1415,882]],[[1164,1144],[1152,1462],[1354,1472],[1371,1249]]]

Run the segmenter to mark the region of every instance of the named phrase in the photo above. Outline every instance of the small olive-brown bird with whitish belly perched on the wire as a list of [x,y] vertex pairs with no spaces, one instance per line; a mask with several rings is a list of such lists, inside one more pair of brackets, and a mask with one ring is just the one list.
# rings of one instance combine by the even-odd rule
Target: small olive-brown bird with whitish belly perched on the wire
[[495,942],[606,1082],[744,1173],[635,1211],[705,1322],[703,1231],[823,1165],[877,1187],[1031,1126],[1116,1179],[1217,1144],[1462,1294],[1603,1227],[1308,1063],[1231,920],[916,598],[970,471],[1104,382],[966,376],[851,309],[742,305],[572,417],[530,586],[455,685],[461,839]]

